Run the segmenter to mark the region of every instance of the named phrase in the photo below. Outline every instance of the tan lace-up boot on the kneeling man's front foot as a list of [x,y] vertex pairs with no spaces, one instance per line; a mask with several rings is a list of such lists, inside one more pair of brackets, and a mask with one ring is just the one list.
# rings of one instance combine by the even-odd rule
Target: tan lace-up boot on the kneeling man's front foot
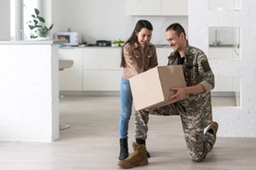
[[119,161],[119,167],[127,169],[148,164],[148,156],[145,144],[137,144],[133,142],[132,147],[134,148],[134,152],[125,160]]

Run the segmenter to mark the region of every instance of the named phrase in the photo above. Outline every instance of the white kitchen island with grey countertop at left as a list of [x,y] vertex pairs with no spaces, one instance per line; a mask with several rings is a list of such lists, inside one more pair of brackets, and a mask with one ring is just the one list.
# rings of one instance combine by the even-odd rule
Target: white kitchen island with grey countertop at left
[[58,139],[60,42],[0,41],[0,141]]

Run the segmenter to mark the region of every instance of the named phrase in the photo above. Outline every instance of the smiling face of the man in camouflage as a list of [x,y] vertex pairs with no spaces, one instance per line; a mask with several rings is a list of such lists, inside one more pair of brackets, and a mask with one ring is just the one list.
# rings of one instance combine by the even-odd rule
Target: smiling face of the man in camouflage
[[182,48],[183,44],[183,33],[177,36],[176,32],[173,30],[166,31],[166,40],[174,51]]

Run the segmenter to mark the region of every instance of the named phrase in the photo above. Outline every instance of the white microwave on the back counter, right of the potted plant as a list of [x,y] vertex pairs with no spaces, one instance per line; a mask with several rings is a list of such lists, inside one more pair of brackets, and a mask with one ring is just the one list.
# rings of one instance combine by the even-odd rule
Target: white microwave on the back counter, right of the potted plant
[[82,42],[79,32],[56,32],[54,39],[67,40],[68,42],[63,43],[65,46],[79,46],[79,43]]

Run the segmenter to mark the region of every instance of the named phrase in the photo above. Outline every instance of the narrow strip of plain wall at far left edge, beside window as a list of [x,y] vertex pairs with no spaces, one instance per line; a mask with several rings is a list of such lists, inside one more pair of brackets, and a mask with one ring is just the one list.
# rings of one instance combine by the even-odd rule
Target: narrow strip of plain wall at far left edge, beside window
[[0,1],[0,40],[10,39],[10,1],[1,0]]

